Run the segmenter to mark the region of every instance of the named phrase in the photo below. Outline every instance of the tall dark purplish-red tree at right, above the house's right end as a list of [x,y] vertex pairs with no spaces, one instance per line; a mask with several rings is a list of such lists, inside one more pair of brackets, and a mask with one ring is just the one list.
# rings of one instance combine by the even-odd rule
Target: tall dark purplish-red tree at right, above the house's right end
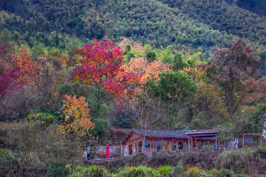
[[260,60],[251,55],[250,46],[239,39],[231,43],[227,49],[214,48],[215,60],[199,67],[207,76],[224,91],[225,102],[232,119],[238,107],[259,91]]

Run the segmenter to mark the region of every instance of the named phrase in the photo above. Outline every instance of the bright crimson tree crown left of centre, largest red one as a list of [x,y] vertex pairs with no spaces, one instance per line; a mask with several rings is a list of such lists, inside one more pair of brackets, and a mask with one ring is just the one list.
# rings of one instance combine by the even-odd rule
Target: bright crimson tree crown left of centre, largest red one
[[[73,79],[88,86],[96,85],[98,89],[105,89],[116,97],[131,96],[133,90],[129,86],[137,81],[140,75],[125,72],[121,68],[122,52],[119,47],[114,46],[114,42],[107,39],[102,39],[101,42],[93,40],[93,44],[83,46],[83,59],[73,70]],[[111,98],[110,95],[105,102]]]

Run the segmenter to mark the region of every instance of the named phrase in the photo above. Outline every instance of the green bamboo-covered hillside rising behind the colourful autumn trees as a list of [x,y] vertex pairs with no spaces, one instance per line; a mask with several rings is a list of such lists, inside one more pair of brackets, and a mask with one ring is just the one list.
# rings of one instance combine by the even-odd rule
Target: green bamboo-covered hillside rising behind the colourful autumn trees
[[[26,41],[36,54],[38,46],[67,54],[73,40],[82,45],[126,36],[208,57],[212,47],[243,38],[257,49],[265,75],[266,18],[238,7],[240,2],[247,7],[244,0],[1,0],[0,41]],[[263,11],[261,4],[253,7]]]

